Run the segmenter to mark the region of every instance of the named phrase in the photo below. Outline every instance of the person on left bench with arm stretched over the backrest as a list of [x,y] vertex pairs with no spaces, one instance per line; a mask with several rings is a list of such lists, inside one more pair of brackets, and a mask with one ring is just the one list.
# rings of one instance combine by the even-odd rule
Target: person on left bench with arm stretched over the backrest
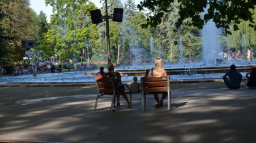
[[[112,63],[109,63],[108,65],[106,65],[106,69],[108,69],[108,73],[104,73],[103,75],[97,76],[95,78],[95,81],[99,81],[102,78],[114,78],[114,83],[116,84],[116,86],[120,86],[122,84],[121,75],[118,72],[114,72],[114,65]],[[117,88],[117,93],[122,93],[123,91],[125,91],[125,86],[120,86]],[[129,108],[130,101],[128,100],[126,93],[122,93],[122,96],[126,100]],[[120,106],[119,99],[120,96],[117,96],[117,106]]]

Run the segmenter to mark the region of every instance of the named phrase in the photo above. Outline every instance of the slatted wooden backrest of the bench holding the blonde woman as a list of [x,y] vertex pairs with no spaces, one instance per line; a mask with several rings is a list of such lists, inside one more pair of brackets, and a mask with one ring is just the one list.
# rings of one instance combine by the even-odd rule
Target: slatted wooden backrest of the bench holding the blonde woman
[[143,93],[168,92],[170,88],[170,76],[166,77],[142,77],[140,78]]

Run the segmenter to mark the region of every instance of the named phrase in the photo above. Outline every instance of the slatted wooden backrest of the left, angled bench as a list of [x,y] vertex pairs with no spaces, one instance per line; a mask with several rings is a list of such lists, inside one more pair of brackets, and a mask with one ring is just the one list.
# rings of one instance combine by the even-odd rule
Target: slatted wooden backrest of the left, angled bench
[[116,84],[114,84],[113,78],[103,78],[99,81],[95,81],[95,84],[97,86],[98,93],[104,93],[109,95],[117,93]]

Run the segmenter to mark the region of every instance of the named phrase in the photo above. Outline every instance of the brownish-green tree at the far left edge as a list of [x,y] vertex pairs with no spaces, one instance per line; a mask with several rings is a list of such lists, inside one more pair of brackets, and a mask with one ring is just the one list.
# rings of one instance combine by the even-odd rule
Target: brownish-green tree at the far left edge
[[6,29],[8,37],[15,39],[3,39],[11,53],[12,60],[23,60],[26,49],[21,47],[24,39],[33,39],[36,37],[35,27],[32,25],[31,8],[29,0],[2,0],[0,2],[1,14],[5,14],[0,24]]

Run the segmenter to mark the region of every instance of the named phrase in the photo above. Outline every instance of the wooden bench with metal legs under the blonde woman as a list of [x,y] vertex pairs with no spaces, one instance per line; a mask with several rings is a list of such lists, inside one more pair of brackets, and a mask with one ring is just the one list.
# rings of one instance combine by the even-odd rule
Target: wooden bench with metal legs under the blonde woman
[[168,110],[170,110],[170,76],[166,77],[142,77],[142,111],[146,109],[146,95],[154,93],[168,93]]

